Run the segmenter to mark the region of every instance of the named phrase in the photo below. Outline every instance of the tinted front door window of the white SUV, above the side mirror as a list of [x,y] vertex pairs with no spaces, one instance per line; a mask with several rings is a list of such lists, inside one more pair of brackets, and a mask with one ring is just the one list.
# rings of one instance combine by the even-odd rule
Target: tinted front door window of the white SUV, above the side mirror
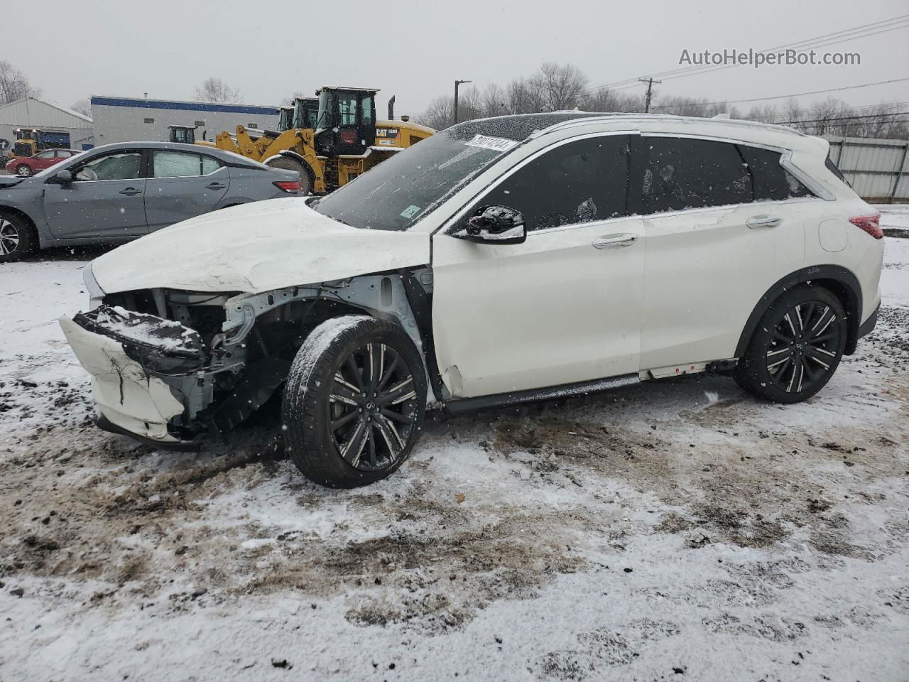
[[482,204],[517,209],[528,232],[625,216],[628,153],[626,135],[557,146],[506,178]]

